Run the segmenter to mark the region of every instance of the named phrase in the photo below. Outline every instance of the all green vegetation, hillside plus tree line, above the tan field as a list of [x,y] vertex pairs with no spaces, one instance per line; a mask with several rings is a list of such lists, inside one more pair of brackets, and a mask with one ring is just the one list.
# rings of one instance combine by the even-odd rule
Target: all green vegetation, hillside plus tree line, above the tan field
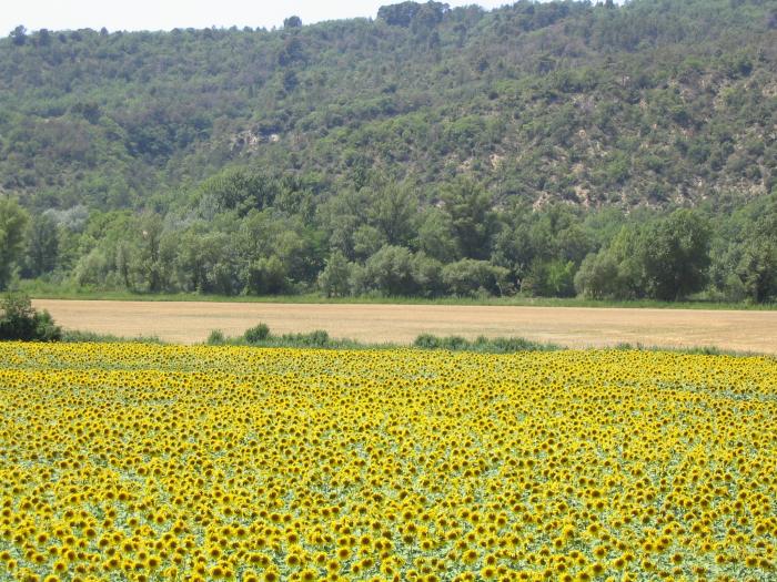
[[766,0],[0,40],[0,288],[777,298]]

